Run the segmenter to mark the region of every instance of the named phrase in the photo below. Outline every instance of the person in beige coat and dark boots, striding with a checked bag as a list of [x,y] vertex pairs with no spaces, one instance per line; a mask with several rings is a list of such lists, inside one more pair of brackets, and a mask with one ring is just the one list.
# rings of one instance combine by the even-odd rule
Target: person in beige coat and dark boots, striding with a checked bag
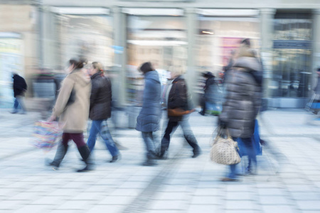
[[83,138],[83,131],[87,128],[87,119],[90,107],[91,82],[85,70],[82,70],[84,62],[79,59],[69,61],[70,74],[62,82],[53,114],[48,121],[54,121],[59,117],[63,126],[62,143],[59,144],[54,160],[50,163],[53,170],[57,170],[68,151],[68,142],[73,140],[86,166],[78,172],[92,170],[89,161],[90,149]]

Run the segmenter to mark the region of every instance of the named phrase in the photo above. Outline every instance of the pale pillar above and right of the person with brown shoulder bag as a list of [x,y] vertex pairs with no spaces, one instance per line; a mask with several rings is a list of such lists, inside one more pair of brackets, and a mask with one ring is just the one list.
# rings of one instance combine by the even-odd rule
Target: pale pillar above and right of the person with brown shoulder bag
[[198,72],[196,72],[196,35],[197,35],[197,14],[196,9],[187,8],[186,23],[187,23],[187,62],[186,62],[186,81],[189,92],[193,97],[193,103],[198,104],[198,97],[196,97],[196,84],[198,80]]

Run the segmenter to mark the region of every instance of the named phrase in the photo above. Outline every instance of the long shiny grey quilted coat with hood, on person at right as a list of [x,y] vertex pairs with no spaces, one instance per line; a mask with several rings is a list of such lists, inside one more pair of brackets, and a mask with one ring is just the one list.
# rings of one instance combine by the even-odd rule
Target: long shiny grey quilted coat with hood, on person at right
[[235,138],[250,138],[253,135],[261,104],[261,87],[255,80],[260,76],[260,70],[260,62],[252,56],[238,58],[229,72],[220,120],[227,124],[231,136]]

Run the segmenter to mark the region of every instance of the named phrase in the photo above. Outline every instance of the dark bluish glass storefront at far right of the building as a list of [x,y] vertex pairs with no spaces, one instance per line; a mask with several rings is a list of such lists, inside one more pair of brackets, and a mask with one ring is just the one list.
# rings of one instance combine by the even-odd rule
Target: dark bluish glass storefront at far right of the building
[[295,16],[274,19],[272,97],[308,97],[311,89],[312,22]]

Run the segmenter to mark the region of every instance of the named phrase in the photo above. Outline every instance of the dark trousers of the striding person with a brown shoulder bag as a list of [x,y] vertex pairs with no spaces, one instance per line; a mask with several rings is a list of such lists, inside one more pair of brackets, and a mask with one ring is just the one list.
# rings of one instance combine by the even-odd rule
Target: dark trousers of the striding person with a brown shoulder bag
[[174,133],[178,126],[181,126],[183,131],[183,136],[186,138],[186,141],[189,143],[189,145],[193,148],[193,150],[198,150],[198,141],[196,140],[196,137],[193,135],[193,132],[191,131],[190,125],[188,123],[187,118],[183,118],[183,121],[171,121],[169,119],[168,125],[166,126],[166,131],[164,133],[164,138],[161,140],[161,152],[168,150],[169,144],[170,144],[170,137],[171,133]]

